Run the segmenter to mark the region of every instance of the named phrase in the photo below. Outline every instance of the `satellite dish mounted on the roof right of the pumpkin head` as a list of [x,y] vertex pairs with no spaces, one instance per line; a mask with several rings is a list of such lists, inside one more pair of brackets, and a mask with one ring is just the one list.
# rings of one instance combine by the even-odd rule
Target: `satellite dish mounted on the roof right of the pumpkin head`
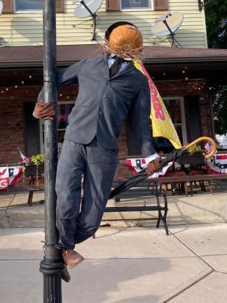
[[179,29],[182,22],[184,20],[184,15],[179,12],[169,12],[165,15],[162,15],[160,18],[158,18],[152,29],[152,34],[155,34],[156,36],[167,36],[167,39],[172,39],[172,47],[173,46],[181,46],[181,44],[175,39],[174,32]]

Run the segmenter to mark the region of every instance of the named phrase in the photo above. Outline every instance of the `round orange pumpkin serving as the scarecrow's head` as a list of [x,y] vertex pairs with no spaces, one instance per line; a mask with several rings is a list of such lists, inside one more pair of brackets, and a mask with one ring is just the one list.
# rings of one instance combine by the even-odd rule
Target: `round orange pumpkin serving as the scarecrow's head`
[[137,27],[120,25],[112,30],[109,36],[109,43],[114,50],[125,47],[130,47],[132,50],[141,50],[143,47],[143,37]]

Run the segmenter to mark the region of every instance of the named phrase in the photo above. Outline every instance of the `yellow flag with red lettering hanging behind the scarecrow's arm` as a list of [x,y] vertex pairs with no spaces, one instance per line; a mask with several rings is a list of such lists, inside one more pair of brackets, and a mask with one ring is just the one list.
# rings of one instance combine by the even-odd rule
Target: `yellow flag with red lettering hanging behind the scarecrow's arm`
[[153,137],[165,137],[175,148],[181,148],[181,142],[174,128],[170,115],[165,108],[162,97],[159,95],[156,86],[154,85],[149,73],[146,71],[142,62],[133,61],[135,67],[139,69],[142,74],[146,76],[149,81],[149,88],[151,92],[151,114]]

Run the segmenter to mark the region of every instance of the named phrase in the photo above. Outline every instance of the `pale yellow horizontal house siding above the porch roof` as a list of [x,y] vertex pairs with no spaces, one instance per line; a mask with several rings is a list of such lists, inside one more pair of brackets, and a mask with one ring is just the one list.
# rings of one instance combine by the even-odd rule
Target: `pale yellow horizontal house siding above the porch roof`
[[[134,23],[141,29],[144,45],[170,46],[165,36],[151,35],[151,27],[166,11],[117,11],[106,12],[105,1],[97,12],[97,41],[92,38],[92,20],[74,16],[76,6],[71,0],[64,1],[64,13],[57,13],[57,44],[75,45],[102,43],[106,28],[119,20]],[[176,39],[183,47],[207,48],[205,13],[198,10],[198,0],[170,0],[168,11],[184,13],[184,22],[177,31]],[[85,22],[86,21],[86,22]],[[83,23],[85,22],[85,23]],[[43,43],[41,13],[4,13],[0,17],[1,44],[6,46],[39,46]]]

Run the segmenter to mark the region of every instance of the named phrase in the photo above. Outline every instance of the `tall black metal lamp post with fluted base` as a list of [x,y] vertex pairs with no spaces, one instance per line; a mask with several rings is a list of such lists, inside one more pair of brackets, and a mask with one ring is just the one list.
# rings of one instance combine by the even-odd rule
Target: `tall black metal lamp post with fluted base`
[[[44,102],[57,109],[56,84],[56,0],[44,0],[43,8],[43,90]],[[56,110],[57,112],[57,110]],[[45,121],[45,256],[40,263],[43,273],[43,303],[62,302],[62,278],[69,274],[62,262],[61,250],[56,248],[57,114],[54,121]]]

